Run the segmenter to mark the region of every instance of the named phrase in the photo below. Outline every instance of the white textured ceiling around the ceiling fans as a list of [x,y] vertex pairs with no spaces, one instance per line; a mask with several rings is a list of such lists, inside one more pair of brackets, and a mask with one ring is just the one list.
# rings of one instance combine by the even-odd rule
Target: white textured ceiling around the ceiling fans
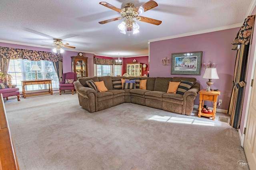
[[[127,2],[137,7],[147,1],[106,2],[122,8]],[[76,47],[75,51],[96,55],[148,55],[148,40],[243,23],[250,15],[255,0],[155,1],[158,6],[141,16],[161,20],[162,23],[153,25],[137,21],[140,33],[128,36],[119,33],[117,26],[121,20],[98,23],[120,16],[118,12],[100,5],[102,0],[0,0],[0,42],[38,46],[58,38]]]

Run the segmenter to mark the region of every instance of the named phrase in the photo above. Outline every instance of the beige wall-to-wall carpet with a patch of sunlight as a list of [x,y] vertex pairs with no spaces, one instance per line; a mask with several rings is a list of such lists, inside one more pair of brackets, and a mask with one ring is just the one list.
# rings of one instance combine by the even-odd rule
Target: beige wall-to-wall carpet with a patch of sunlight
[[248,170],[228,123],[125,103],[88,113],[77,94],[10,98],[21,170]]

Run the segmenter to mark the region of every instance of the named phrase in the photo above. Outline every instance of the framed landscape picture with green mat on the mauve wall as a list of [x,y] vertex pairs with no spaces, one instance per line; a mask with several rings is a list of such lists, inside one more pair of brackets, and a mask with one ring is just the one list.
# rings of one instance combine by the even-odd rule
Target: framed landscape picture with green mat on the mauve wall
[[171,74],[201,75],[202,51],[173,53]]

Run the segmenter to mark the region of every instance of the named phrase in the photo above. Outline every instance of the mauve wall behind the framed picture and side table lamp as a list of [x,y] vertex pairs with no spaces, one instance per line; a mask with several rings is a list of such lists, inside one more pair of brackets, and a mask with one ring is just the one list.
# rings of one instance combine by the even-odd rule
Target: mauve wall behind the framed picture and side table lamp
[[[201,75],[179,75],[170,74],[171,64],[163,66],[161,59],[167,56],[171,59],[172,53],[186,53],[202,51],[202,63],[216,63],[218,76],[220,79],[213,80],[212,89],[219,89],[221,95],[218,100],[222,99],[220,109],[228,109],[230,94],[233,86],[234,65],[236,60],[236,51],[231,50],[234,37],[239,28],[226,29],[211,33],[191,35],[175,39],[167,39],[150,43],[150,77],[195,77],[201,84],[201,89],[206,88],[208,79],[202,78],[204,69],[201,69]],[[195,101],[199,105],[199,95]],[[207,106],[212,107],[212,103],[206,101]]]

